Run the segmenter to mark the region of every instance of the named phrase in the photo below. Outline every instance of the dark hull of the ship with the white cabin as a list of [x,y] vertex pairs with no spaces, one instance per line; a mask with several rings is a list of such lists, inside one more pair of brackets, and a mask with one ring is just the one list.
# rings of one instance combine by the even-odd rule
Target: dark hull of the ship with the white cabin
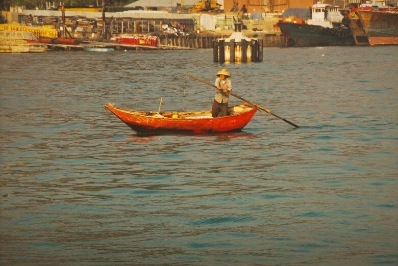
[[278,26],[285,36],[287,46],[333,46],[354,45],[350,29],[325,28],[319,25],[279,21]]

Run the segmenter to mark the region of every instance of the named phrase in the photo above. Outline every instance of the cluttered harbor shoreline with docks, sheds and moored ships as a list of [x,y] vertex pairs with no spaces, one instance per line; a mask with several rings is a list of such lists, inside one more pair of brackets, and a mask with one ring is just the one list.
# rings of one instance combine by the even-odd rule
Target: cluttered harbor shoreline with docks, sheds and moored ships
[[[29,32],[38,38],[39,43],[45,43],[48,49],[57,50],[87,50],[89,47],[102,50],[214,49],[220,39],[229,38],[236,31],[237,24],[240,25],[239,32],[248,39],[260,40],[262,47],[398,43],[396,8],[378,5],[377,0],[350,11],[345,10],[345,13],[336,5],[314,4],[307,14],[308,9],[302,8],[288,9],[281,15],[253,12],[250,17],[231,12],[170,14],[139,10],[107,13],[105,7],[101,10],[81,12],[65,8],[62,3],[57,11],[23,10],[17,14],[2,11],[2,17],[24,21],[26,25],[3,23],[0,24],[0,31]],[[364,25],[363,28],[358,26],[358,21]],[[386,23],[389,28],[380,31],[380,25]],[[381,32],[384,36],[379,36]],[[375,34],[377,37],[372,37]],[[64,42],[60,41],[61,38]],[[122,39],[126,38],[135,38],[137,42],[123,42]],[[3,50],[7,49],[12,50]]]

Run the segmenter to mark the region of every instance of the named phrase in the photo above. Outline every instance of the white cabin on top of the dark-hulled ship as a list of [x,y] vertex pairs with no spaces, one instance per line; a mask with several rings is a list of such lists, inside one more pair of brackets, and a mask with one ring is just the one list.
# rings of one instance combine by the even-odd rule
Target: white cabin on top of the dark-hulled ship
[[309,19],[307,23],[333,28],[332,22],[340,23],[342,19],[343,15],[340,13],[339,6],[321,4],[318,2],[311,6],[311,19]]

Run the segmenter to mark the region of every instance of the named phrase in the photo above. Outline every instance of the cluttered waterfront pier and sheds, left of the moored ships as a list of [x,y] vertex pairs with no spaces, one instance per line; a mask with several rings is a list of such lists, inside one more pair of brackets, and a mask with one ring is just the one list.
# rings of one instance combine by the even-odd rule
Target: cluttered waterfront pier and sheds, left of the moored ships
[[[10,15],[12,12],[9,12]],[[214,48],[218,39],[228,38],[233,31],[233,23],[237,19],[233,15],[215,15],[217,26],[214,30],[207,30],[200,24],[200,14],[168,14],[139,12],[128,13],[116,12],[107,14],[109,18],[98,12],[79,13],[72,11],[51,11],[51,10],[24,10],[19,13],[18,21],[23,21],[26,14],[32,13],[37,24],[44,24],[35,27],[24,26],[23,31],[34,31],[37,37],[73,38],[82,40],[79,45],[46,43],[51,49],[79,50],[88,45],[90,47],[114,47],[115,49],[197,49]],[[61,16],[60,16],[61,15]],[[102,19],[101,19],[102,17]],[[40,18],[40,20],[39,20]],[[281,32],[275,28],[278,18],[265,18],[258,20],[240,20],[244,24],[242,33],[251,39],[261,41],[263,47],[285,46],[285,38]],[[57,21],[57,22],[54,22]],[[105,21],[105,23],[103,23]],[[175,34],[167,32],[165,25],[173,21],[174,25],[183,26],[183,30]],[[61,23],[62,22],[62,23]],[[50,23],[47,25],[45,23]],[[15,28],[15,24],[3,24],[3,28],[10,26]],[[50,27],[51,26],[51,27]],[[25,29],[26,28],[26,29]],[[180,30],[179,26],[176,26]],[[176,29],[173,26],[173,29]],[[169,28],[170,29],[170,28]],[[7,29],[4,29],[7,30]],[[19,29],[20,30],[20,29]],[[147,36],[156,37],[158,44],[148,45],[129,45],[126,43],[113,42],[112,38],[123,38],[128,36]]]

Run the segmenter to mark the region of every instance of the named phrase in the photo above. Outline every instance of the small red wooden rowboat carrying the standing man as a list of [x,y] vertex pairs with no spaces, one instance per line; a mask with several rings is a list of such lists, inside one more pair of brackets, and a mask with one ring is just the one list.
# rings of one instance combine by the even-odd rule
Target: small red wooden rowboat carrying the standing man
[[194,112],[145,112],[114,107],[105,103],[121,121],[137,132],[227,132],[242,129],[257,112],[258,107],[242,103],[228,108],[229,115],[211,117],[211,110]]

